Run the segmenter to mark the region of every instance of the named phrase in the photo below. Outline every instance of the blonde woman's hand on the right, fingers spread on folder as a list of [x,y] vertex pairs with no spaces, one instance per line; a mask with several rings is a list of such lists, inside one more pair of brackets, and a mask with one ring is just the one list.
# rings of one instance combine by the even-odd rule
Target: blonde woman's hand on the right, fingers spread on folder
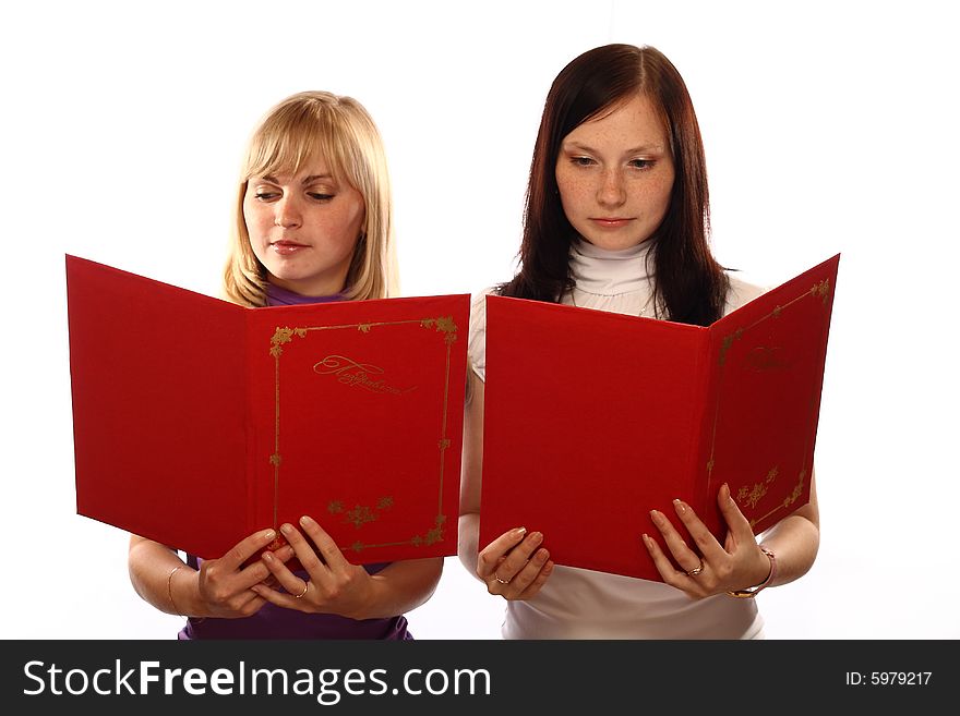
[[304,515],[300,518],[300,526],[312,545],[291,524],[281,525],[280,533],[293,548],[308,578],[298,577],[266,551],[262,559],[284,591],[262,584],[251,588],[267,602],[287,609],[344,617],[361,614],[371,598],[370,574],[347,561],[333,537],[315,520]]

